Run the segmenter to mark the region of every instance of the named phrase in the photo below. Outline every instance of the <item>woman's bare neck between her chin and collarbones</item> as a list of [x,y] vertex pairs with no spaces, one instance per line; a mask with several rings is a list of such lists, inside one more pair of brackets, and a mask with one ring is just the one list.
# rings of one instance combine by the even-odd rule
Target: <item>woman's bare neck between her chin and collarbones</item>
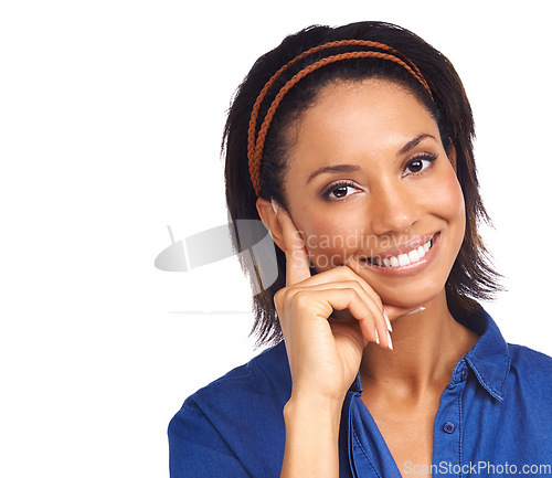
[[479,337],[453,318],[445,294],[424,307],[393,321],[394,350],[372,343],[364,349],[363,387],[384,386],[395,397],[397,393],[421,397],[428,391],[442,392],[448,384],[454,367]]

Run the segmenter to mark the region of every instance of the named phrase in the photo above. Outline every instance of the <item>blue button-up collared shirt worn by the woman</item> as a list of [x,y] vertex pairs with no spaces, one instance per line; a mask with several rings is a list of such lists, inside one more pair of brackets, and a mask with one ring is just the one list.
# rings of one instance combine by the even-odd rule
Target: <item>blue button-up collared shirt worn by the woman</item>
[[[401,471],[552,477],[552,359],[506,343],[482,310],[461,322],[480,338],[440,396],[432,469]],[[282,342],[190,396],[169,425],[171,477],[279,477],[290,391]],[[342,407],[340,477],[401,478],[361,394],[357,376]]]

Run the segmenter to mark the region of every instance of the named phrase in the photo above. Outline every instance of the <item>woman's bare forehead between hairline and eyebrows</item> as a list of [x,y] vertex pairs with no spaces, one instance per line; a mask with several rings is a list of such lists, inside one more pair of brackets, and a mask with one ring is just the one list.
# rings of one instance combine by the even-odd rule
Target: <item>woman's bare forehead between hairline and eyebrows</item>
[[[386,79],[335,82],[296,123],[290,160],[348,153],[380,156],[413,137],[438,138],[432,114],[406,87]],[[337,158],[336,158],[337,159]]]

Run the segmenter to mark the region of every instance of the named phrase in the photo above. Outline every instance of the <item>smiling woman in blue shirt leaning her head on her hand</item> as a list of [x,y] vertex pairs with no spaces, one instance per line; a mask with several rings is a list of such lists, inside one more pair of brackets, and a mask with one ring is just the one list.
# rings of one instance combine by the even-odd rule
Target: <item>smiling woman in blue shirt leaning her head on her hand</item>
[[473,136],[454,67],[396,25],[309,28],[255,63],[226,198],[278,247],[254,299],[278,343],[187,400],[171,476],[552,474],[552,360],[476,301],[499,286]]

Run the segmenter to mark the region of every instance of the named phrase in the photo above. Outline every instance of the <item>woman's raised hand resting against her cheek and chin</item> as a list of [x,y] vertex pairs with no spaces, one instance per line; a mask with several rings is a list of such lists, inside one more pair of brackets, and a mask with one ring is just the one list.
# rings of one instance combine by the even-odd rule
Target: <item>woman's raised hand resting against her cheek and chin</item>
[[[369,342],[390,348],[389,319],[411,309],[384,306],[350,267],[310,275],[304,242],[289,214],[277,211],[286,253],[286,287],[274,297],[293,379],[294,397],[341,405]],[[348,310],[337,319],[335,311]],[[333,316],[332,316],[333,315]]]

